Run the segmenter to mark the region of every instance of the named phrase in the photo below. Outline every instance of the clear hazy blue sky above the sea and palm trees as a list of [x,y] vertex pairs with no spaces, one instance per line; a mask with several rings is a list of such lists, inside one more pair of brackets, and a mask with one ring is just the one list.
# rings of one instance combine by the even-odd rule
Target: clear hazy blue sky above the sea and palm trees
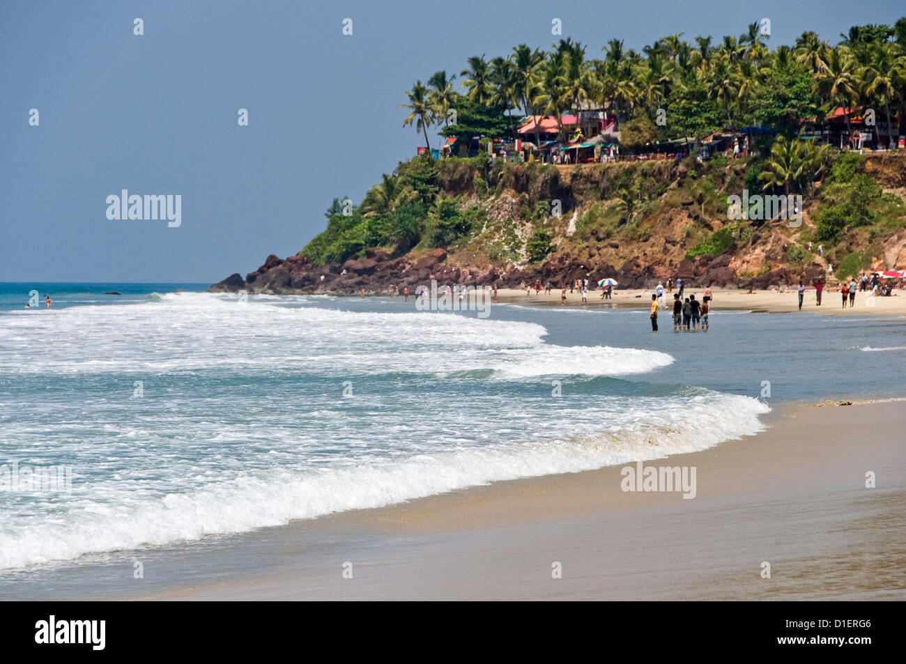
[[[804,30],[837,43],[903,14],[901,0],[4,2],[0,282],[210,284],[293,255],[334,197],[358,203],[415,154],[400,108],[412,83],[471,55],[566,37],[590,58],[612,38],[719,42],[762,18],[771,48]],[[179,226],[108,219],[122,189],[179,196]]]

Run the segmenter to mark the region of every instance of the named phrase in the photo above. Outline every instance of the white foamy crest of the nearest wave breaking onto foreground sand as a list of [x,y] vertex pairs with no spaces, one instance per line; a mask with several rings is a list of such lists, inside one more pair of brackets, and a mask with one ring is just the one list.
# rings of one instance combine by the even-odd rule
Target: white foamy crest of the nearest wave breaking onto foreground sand
[[624,415],[599,433],[305,473],[240,473],[188,493],[115,503],[85,498],[80,509],[0,533],[0,569],[245,532],[493,481],[668,457],[753,435],[763,428],[758,416],[767,411],[756,399],[710,393],[635,413],[634,419]]

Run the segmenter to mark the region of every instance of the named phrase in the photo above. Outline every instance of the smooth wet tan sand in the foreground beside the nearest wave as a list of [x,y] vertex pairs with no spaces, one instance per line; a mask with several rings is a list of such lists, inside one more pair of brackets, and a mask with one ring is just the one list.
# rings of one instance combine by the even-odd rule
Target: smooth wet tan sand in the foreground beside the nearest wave
[[271,529],[332,532],[342,554],[147,599],[906,599],[904,403],[786,405],[766,423],[645,463],[694,467],[692,499],[623,491],[621,467],[498,482]]

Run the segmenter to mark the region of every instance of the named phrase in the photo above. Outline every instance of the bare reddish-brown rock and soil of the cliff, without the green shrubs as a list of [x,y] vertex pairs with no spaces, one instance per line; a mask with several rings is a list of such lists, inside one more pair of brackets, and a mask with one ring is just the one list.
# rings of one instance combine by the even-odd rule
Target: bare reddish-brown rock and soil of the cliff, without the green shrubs
[[[766,288],[810,281],[826,272],[825,258],[792,260],[790,253],[790,247],[805,245],[804,234],[814,230],[816,199],[806,201],[802,226],[781,221],[740,226],[728,219],[723,201],[744,186],[747,165],[730,161],[719,171],[707,168],[670,160],[581,168],[513,165],[497,174],[491,183],[495,189],[479,196],[477,170],[460,167],[455,178],[441,179],[439,185],[449,196],[458,196],[463,207],[480,207],[483,225],[467,243],[417,247],[406,253],[367,248],[361,257],[321,266],[312,265],[304,255],[285,259],[269,255],[245,278],[232,274],[209,291],[386,294],[407,286],[414,291],[431,279],[439,284],[503,287],[535,279],[562,284],[586,275],[595,281],[612,276],[627,288],[653,287],[669,277],[697,286]],[[872,155],[863,159],[860,170],[881,182],[885,191],[906,194],[906,156]],[[641,210],[629,224],[608,221],[608,210],[624,210],[626,187],[635,187]],[[561,215],[527,220],[527,211],[554,201],[563,210]],[[532,263],[525,246],[538,227],[545,229],[554,248],[543,261]],[[728,227],[734,239],[723,251],[691,257],[689,250],[703,238]],[[880,243],[879,265],[906,268],[906,229],[888,235]],[[851,250],[858,249],[860,241],[853,236]],[[503,258],[491,251],[501,245],[510,249]],[[836,260],[833,255],[827,258]]]

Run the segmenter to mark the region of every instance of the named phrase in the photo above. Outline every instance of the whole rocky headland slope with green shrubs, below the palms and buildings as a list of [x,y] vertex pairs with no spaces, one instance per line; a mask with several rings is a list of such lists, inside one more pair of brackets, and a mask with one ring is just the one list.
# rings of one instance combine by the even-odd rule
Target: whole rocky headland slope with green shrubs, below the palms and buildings
[[829,158],[806,183],[803,223],[792,227],[728,218],[728,197],[761,193],[762,168],[755,158],[583,166],[412,159],[359,207],[334,201],[328,229],[298,255],[270,255],[245,279],[232,274],[208,290],[384,294],[432,278],[511,286],[586,274],[623,287],[679,276],[766,288],[810,280],[828,262],[840,278],[906,268],[906,156]]

